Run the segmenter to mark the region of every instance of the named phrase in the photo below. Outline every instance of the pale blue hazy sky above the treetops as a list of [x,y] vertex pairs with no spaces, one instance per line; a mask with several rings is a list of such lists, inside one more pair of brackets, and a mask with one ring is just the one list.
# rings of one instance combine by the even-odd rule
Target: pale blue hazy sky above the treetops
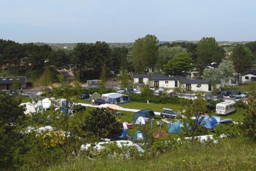
[[0,0],[0,39],[18,42],[256,40],[255,0]]

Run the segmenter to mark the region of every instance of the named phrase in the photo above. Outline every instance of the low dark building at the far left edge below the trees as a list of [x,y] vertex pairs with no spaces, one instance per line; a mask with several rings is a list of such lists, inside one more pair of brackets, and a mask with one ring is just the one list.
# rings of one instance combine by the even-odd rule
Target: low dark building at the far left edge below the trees
[[10,90],[15,80],[20,84],[21,89],[26,88],[26,77],[0,77],[0,90]]

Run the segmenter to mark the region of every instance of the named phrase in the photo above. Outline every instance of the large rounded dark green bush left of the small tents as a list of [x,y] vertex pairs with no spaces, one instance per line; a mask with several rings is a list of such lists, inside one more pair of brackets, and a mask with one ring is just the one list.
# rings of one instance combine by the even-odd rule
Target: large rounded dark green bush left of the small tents
[[82,130],[87,135],[116,139],[122,133],[122,124],[108,110],[94,108],[86,116]]

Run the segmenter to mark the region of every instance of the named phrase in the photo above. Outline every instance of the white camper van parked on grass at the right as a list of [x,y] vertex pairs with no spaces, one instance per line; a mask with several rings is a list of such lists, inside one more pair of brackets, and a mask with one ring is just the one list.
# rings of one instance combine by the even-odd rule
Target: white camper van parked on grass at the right
[[218,115],[227,115],[236,110],[235,102],[221,102],[216,105],[216,113]]

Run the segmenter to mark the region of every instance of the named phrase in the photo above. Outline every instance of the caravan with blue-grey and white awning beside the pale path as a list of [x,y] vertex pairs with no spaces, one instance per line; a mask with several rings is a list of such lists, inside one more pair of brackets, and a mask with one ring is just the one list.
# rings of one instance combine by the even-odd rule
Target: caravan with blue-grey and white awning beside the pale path
[[121,93],[103,94],[102,98],[110,104],[123,104],[129,102],[129,96]]

